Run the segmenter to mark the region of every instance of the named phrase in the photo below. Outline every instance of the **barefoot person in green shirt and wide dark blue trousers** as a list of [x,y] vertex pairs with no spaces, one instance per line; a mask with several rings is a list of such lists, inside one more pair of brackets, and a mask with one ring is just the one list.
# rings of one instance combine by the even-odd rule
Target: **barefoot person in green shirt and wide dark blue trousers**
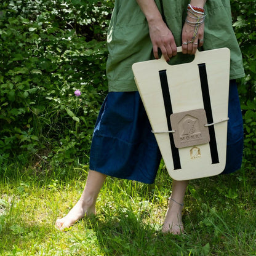
[[[242,57],[231,22],[228,0],[116,0],[108,30],[106,63],[109,93],[95,124],[90,170],[81,198],[55,225],[69,228],[85,215],[95,214],[95,203],[107,175],[153,183],[161,160],[150,122],[137,92],[132,64],[159,58],[174,60],[177,46],[183,55],[228,47],[230,100],[228,146],[224,173],[241,167],[242,116],[236,81],[244,76]],[[221,93],[221,92],[220,92]],[[182,209],[188,181],[172,183],[164,233],[183,231]]]

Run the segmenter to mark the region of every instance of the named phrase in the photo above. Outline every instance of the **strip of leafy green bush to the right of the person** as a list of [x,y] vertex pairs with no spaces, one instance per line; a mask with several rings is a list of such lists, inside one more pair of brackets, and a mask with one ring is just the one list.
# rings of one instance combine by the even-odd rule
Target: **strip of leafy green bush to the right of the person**
[[239,81],[244,118],[244,161],[255,167],[256,158],[256,2],[231,0],[234,30],[241,47],[246,77]]

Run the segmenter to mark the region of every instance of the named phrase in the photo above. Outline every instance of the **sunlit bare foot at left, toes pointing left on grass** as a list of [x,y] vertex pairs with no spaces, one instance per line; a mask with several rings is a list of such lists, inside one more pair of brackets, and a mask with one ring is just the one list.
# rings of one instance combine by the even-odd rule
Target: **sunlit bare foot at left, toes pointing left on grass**
[[59,230],[65,231],[73,226],[78,220],[81,220],[85,215],[95,214],[95,205],[83,206],[82,202],[79,200],[65,217],[56,220],[55,226]]

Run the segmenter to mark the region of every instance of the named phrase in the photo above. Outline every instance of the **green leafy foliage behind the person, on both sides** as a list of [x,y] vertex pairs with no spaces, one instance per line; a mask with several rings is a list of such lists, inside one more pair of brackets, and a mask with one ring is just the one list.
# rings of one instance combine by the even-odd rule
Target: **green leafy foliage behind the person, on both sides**
[[[244,57],[239,82],[247,167],[256,157],[256,4],[231,0]],[[84,164],[107,92],[106,30],[113,1],[0,3],[0,169]],[[76,97],[74,90],[81,90]]]

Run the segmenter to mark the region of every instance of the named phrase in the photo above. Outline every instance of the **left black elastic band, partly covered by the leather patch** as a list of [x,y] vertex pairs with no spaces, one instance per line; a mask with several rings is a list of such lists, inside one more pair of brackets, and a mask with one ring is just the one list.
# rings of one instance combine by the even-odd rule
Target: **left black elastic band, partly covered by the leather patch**
[[[172,130],[172,125],[170,124],[170,115],[172,114],[172,102],[170,101],[170,92],[167,81],[166,70],[159,71],[160,82],[162,87],[162,97],[164,98],[164,108],[166,110],[166,120],[168,129]],[[170,147],[172,149],[172,159],[174,161],[174,170],[182,169],[180,165],[180,154],[178,153],[178,148],[174,145],[174,137],[172,134],[169,134],[170,138]]]

